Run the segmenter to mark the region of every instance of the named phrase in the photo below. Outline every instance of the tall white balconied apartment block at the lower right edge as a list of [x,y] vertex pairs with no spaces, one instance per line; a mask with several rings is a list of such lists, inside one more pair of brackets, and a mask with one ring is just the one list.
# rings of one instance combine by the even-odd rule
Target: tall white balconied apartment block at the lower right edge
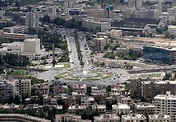
[[155,113],[163,113],[171,117],[172,122],[176,122],[176,95],[171,95],[167,91],[165,95],[154,97]]

